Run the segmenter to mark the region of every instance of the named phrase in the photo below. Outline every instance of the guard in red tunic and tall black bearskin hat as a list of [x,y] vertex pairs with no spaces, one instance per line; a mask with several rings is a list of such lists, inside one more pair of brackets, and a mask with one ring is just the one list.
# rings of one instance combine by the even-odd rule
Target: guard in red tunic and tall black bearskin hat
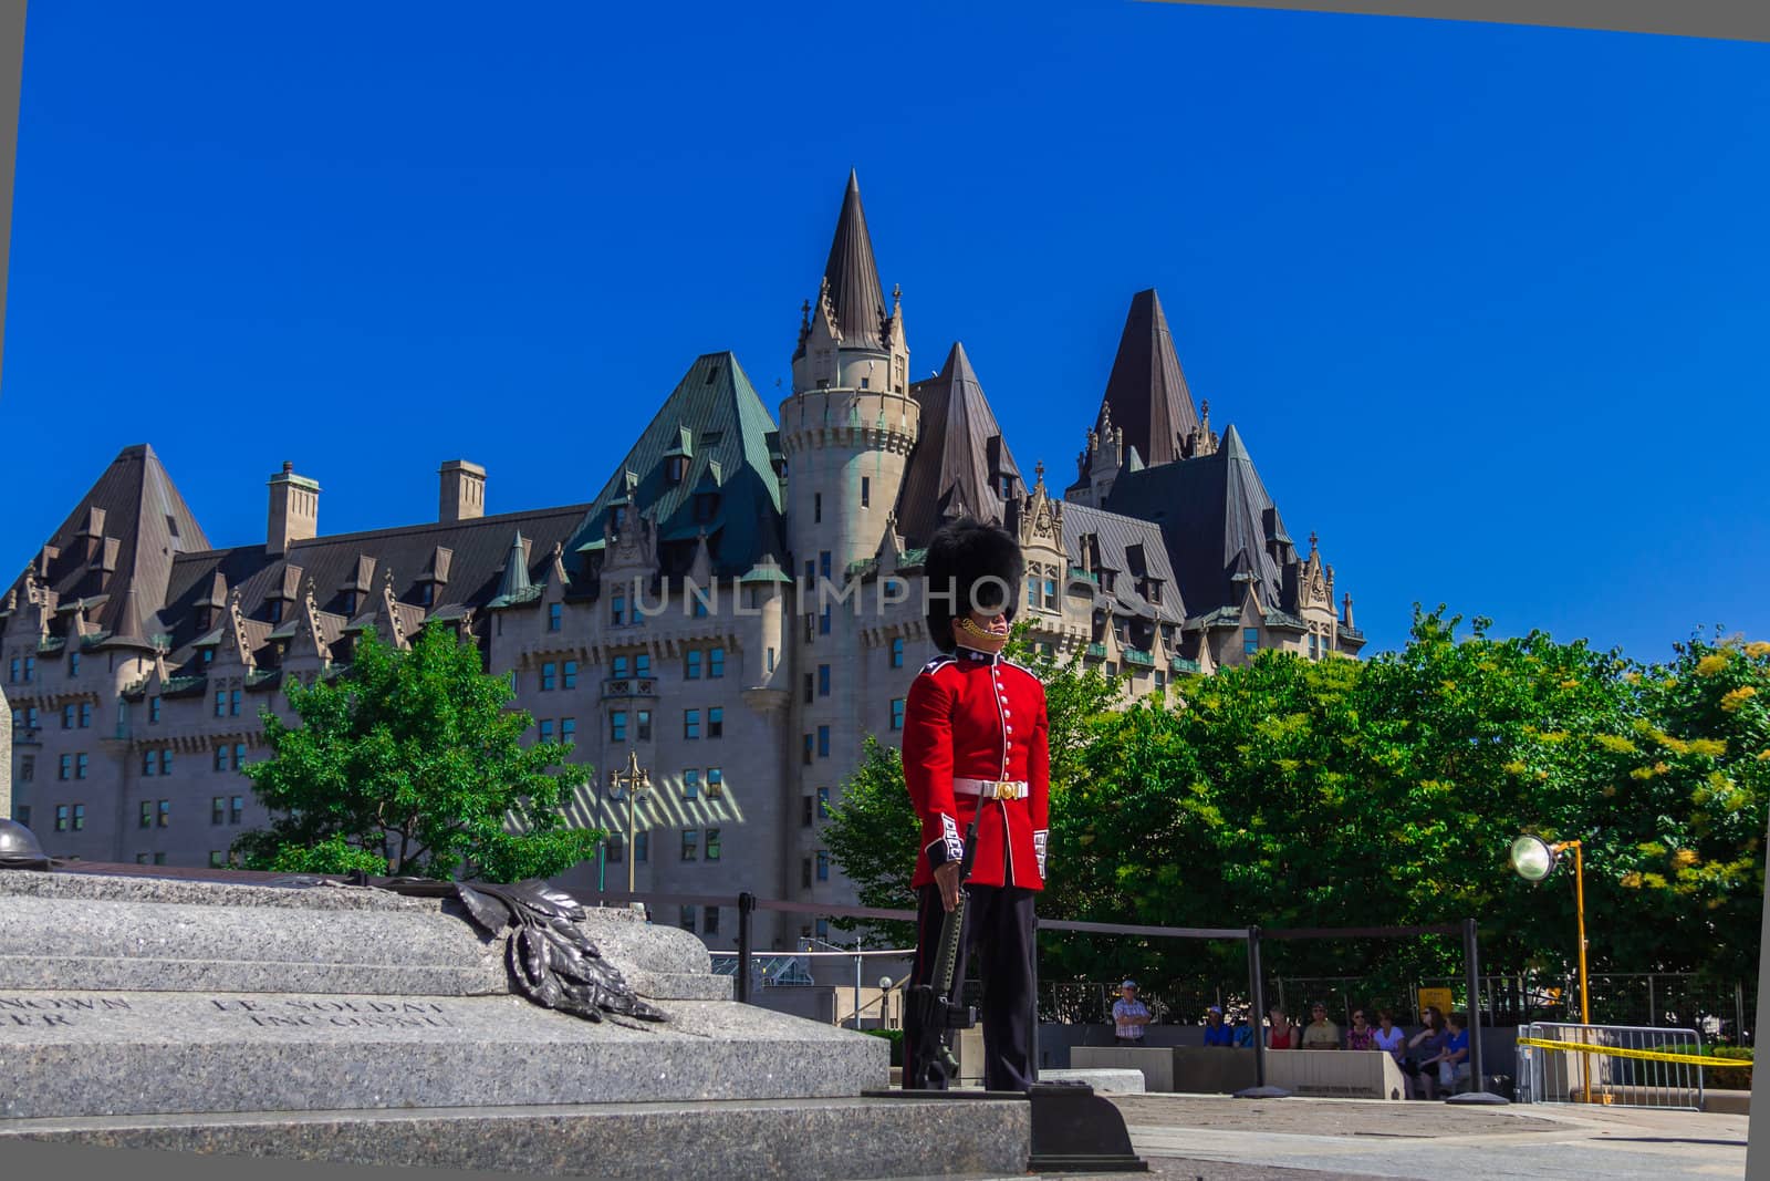
[[[910,885],[917,892],[912,981],[935,977],[943,915],[959,901],[963,834],[977,820],[958,981],[975,953],[984,979],[984,1087],[1030,1091],[1034,898],[1044,889],[1050,751],[1044,685],[1005,660],[1025,572],[1005,529],[959,519],[929,538],[927,629],[940,650],[910,683],[903,777],[922,822]],[[919,1015],[904,1013],[904,1085],[917,1078]]]

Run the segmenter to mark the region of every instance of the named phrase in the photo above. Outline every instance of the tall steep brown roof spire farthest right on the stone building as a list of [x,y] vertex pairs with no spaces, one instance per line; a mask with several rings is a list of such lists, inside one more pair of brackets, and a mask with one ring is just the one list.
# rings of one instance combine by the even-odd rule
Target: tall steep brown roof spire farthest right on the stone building
[[1124,441],[1150,467],[1189,455],[1198,413],[1154,287],[1131,297],[1131,313],[1101,398],[1101,418],[1108,416],[1108,407],[1112,420],[1124,427]]

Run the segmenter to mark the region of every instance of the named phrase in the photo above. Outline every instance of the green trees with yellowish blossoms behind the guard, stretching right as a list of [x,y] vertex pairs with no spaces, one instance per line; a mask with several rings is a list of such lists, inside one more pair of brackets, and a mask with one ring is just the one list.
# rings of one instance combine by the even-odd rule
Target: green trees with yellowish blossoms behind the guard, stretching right
[[[1496,970],[1568,969],[1574,875],[1528,884],[1520,832],[1582,843],[1591,970],[1758,963],[1770,800],[1770,643],[1705,641],[1643,666],[1543,632],[1416,611],[1370,660],[1266,652],[1106,708],[1087,676],[1041,669],[1053,733],[1048,917],[1174,926],[1451,924],[1476,917]],[[1101,682],[1104,678],[1099,678]],[[1064,735],[1058,754],[1057,735]],[[1062,763],[1062,774],[1057,767]],[[896,774],[896,793],[890,776]],[[871,905],[904,905],[913,829],[901,770],[857,811]],[[887,859],[903,857],[897,876]],[[871,859],[871,861],[869,861]],[[860,878],[857,878],[860,880]],[[1044,979],[1239,979],[1232,942],[1046,940]],[[1455,938],[1274,944],[1273,970],[1448,974]]]

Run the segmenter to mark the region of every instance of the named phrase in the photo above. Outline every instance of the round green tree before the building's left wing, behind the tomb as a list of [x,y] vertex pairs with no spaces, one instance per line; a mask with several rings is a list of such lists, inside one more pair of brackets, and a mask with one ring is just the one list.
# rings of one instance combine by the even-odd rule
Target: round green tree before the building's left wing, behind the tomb
[[515,882],[604,836],[563,814],[589,768],[568,744],[522,745],[533,719],[471,639],[425,629],[400,652],[366,632],[343,675],[287,692],[299,724],[262,710],[271,758],[244,768],[271,811],[234,843],[251,868]]

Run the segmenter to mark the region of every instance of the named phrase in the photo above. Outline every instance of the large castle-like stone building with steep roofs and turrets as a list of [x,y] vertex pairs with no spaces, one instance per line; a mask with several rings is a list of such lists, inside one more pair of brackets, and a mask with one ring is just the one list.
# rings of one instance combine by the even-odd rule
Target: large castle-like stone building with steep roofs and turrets
[[[862,738],[903,722],[945,519],[1014,531],[1037,637],[1127,692],[1260,648],[1361,648],[1315,538],[1297,549],[1209,409],[1138,292],[1076,480],[1057,492],[1035,464],[1028,482],[963,345],[910,381],[850,177],[791,393],[770,409],[733,354],[697,358],[588,503],[487,515],[487,471],[450,460],[435,521],[322,535],[320,483],[283,464],[264,538],[216,547],[152,448],[126,448],[0,602],[12,813],[62,857],[221,864],[266,820],[239,774],[262,758],[258,710],[289,717],[280,689],[347,668],[366,629],[404,646],[435,625],[596,768],[570,813],[618,836],[565,885],[632,871],[651,892],[851,901],[823,807]],[[637,804],[609,783],[632,754]],[[735,919],[680,914],[715,947]],[[814,930],[759,914],[756,938]]]

